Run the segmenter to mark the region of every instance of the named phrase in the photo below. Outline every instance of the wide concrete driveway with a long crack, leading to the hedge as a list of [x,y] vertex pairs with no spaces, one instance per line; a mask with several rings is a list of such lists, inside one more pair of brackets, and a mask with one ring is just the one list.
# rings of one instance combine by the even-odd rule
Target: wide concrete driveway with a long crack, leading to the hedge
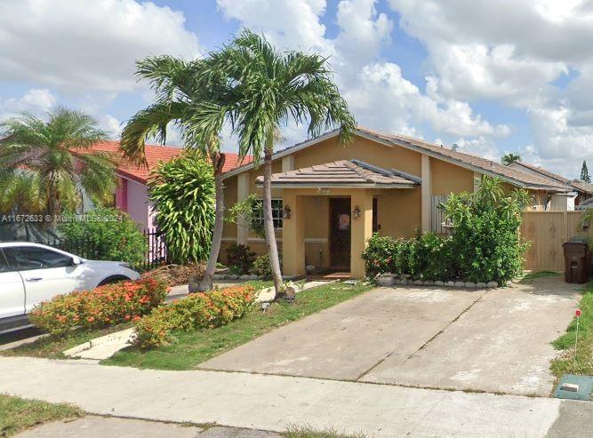
[[549,343],[579,298],[556,277],[489,291],[378,288],[199,368],[546,396]]

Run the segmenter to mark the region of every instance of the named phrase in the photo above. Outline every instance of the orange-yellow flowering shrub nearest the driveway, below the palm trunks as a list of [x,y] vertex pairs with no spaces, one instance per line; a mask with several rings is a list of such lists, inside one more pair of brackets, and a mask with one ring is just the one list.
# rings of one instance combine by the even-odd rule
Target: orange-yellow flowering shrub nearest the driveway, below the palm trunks
[[169,306],[157,307],[136,323],[132,344],[155,348],[172,343],[173,330],[211,329],[228,324],[252,307],[255,296],[252,286],[234,286],[191,294]]

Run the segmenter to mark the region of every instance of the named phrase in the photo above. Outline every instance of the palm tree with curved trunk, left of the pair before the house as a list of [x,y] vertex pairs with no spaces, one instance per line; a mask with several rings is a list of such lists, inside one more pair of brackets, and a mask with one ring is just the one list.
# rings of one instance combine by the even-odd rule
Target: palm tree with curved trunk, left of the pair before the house
[[[148,79],[156,92],[156,102],[132,116],[121,139],[124,157],[145,164],[145,140],[156,138],[164,144],[167,125],[173,123],[180,129],[186,147],[196,148],[199,155],[209,158],[212,163],[216,191],[212,246],[204,278],[201,282],[194,278],[189,287],[192,292],[212,289],[224,225],[222,167],[225,155],[220,153],[219,133],[226,113],[219,111],[222,97],[211,82],[214,79],[204,75],[204,62],[170,56],[149,57],[137,62],[136,75]],[[214,114],[210,112],[212,108]],[[204,112],[210,115],[206,120]]]

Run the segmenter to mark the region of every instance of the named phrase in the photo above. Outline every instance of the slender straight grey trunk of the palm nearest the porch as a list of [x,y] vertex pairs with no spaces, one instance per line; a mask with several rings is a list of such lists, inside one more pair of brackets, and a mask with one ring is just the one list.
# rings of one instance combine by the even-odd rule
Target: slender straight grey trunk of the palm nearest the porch
[[277,299],[278,293],[282,291],[282,273],[278,259],[274,219],[272,218],[272,154],[274,154],[274,131],[270,129],[266,138],[263,162],[263,221],[266,244],[268,245],[269,264],[272,269],[274,289],[276,290],[274,299]]

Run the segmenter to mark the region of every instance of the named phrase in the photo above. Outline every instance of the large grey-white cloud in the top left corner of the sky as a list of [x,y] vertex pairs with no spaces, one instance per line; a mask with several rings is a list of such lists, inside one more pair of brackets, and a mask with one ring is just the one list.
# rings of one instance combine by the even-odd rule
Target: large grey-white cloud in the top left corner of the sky
[[184,25],[182,13],[149,2],[3,0],[0,80],[62,92],[131,91],[135,60],[199,54]]

